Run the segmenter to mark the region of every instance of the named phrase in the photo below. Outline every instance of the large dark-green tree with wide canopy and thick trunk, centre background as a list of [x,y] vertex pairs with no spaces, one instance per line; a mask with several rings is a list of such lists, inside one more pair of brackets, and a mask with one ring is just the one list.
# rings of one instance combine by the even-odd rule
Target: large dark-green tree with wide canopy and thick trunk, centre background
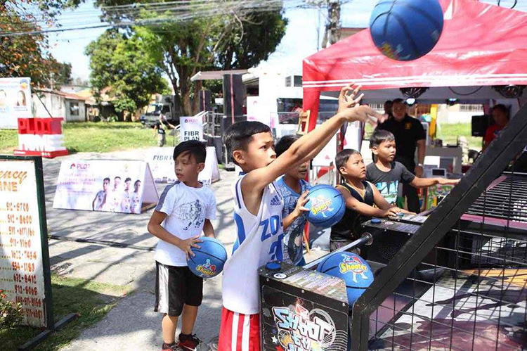
[[[98,0],[96,4],[113,6],[132,2],[138,1]],[[197,112],[198,99],[194,97],[200,89],[200,82],[193,84],[190,77],[200,70],[251,68],[267,59],[285,34],[287,20],[281,11],[239,10],[236,6],[243,4],[242,0],[230,1],[230,4],[234,7],[221,8],[228,6],[223,1],[204,4],[197,13],[209,11],[216,14],[200,17],[188,11],[188,19],[179,22],[174,21],[174,13],[183,10],[177,7],[103,12],[105,20],[110,22],[142,21],[128,35],[141,37],[152,60],[169,77],[180,113],[193,115]]]

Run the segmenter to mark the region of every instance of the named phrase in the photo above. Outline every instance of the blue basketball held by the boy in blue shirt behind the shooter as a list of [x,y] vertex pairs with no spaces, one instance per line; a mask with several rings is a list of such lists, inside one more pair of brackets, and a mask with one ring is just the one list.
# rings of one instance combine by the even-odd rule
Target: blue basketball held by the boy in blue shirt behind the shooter
[[308,221],[321,228],[329,228],[337,224],[344,216],[346,204],[340,191],[333,186],[319,184],[313,186],[308,193],[305,207]]

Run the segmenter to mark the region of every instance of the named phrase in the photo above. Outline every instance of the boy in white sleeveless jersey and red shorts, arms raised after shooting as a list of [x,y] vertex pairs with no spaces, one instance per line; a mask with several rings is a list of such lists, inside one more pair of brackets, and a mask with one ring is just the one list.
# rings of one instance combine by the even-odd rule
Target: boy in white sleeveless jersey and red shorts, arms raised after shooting
[[[368,121],[370,116],[384,120],[371,108],[356,106],[362,98],[355,98],[357,92],[351,86],[344,87],[339,96],[339,113],[295,141],[278,158],[271,129],[263,123],[238,122],[227,130],[224,137],[228,153],[243,172],[233,184],[238,236],[233,255],[223,267],[218,350],[260,350],[257,269],[267,262],[282,260],[283,228],[295,219],[292,215],[282,218],[284,202],[275,179],[317,155],[344,122]],[[302,205],[297,203],[297,207]]]

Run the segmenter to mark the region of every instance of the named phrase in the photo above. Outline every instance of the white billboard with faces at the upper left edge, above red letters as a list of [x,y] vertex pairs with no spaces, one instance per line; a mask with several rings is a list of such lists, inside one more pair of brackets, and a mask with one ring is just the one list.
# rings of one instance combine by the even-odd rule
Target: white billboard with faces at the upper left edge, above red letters
[[18,118],[33,117],[31,113],[31,79],[0,79],[0,129],[18,128]]

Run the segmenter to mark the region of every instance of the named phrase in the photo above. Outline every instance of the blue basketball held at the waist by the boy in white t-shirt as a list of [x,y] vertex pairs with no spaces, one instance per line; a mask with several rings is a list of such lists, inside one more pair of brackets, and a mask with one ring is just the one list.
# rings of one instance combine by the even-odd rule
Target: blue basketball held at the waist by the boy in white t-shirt
[[200,248],[193,248],[195,256],[190,256],[187,261],[188,269],[203,279],[209,279],[223,271],[227,251],[215,238],[202,236],[200,240],[202,243],[197,243]]

